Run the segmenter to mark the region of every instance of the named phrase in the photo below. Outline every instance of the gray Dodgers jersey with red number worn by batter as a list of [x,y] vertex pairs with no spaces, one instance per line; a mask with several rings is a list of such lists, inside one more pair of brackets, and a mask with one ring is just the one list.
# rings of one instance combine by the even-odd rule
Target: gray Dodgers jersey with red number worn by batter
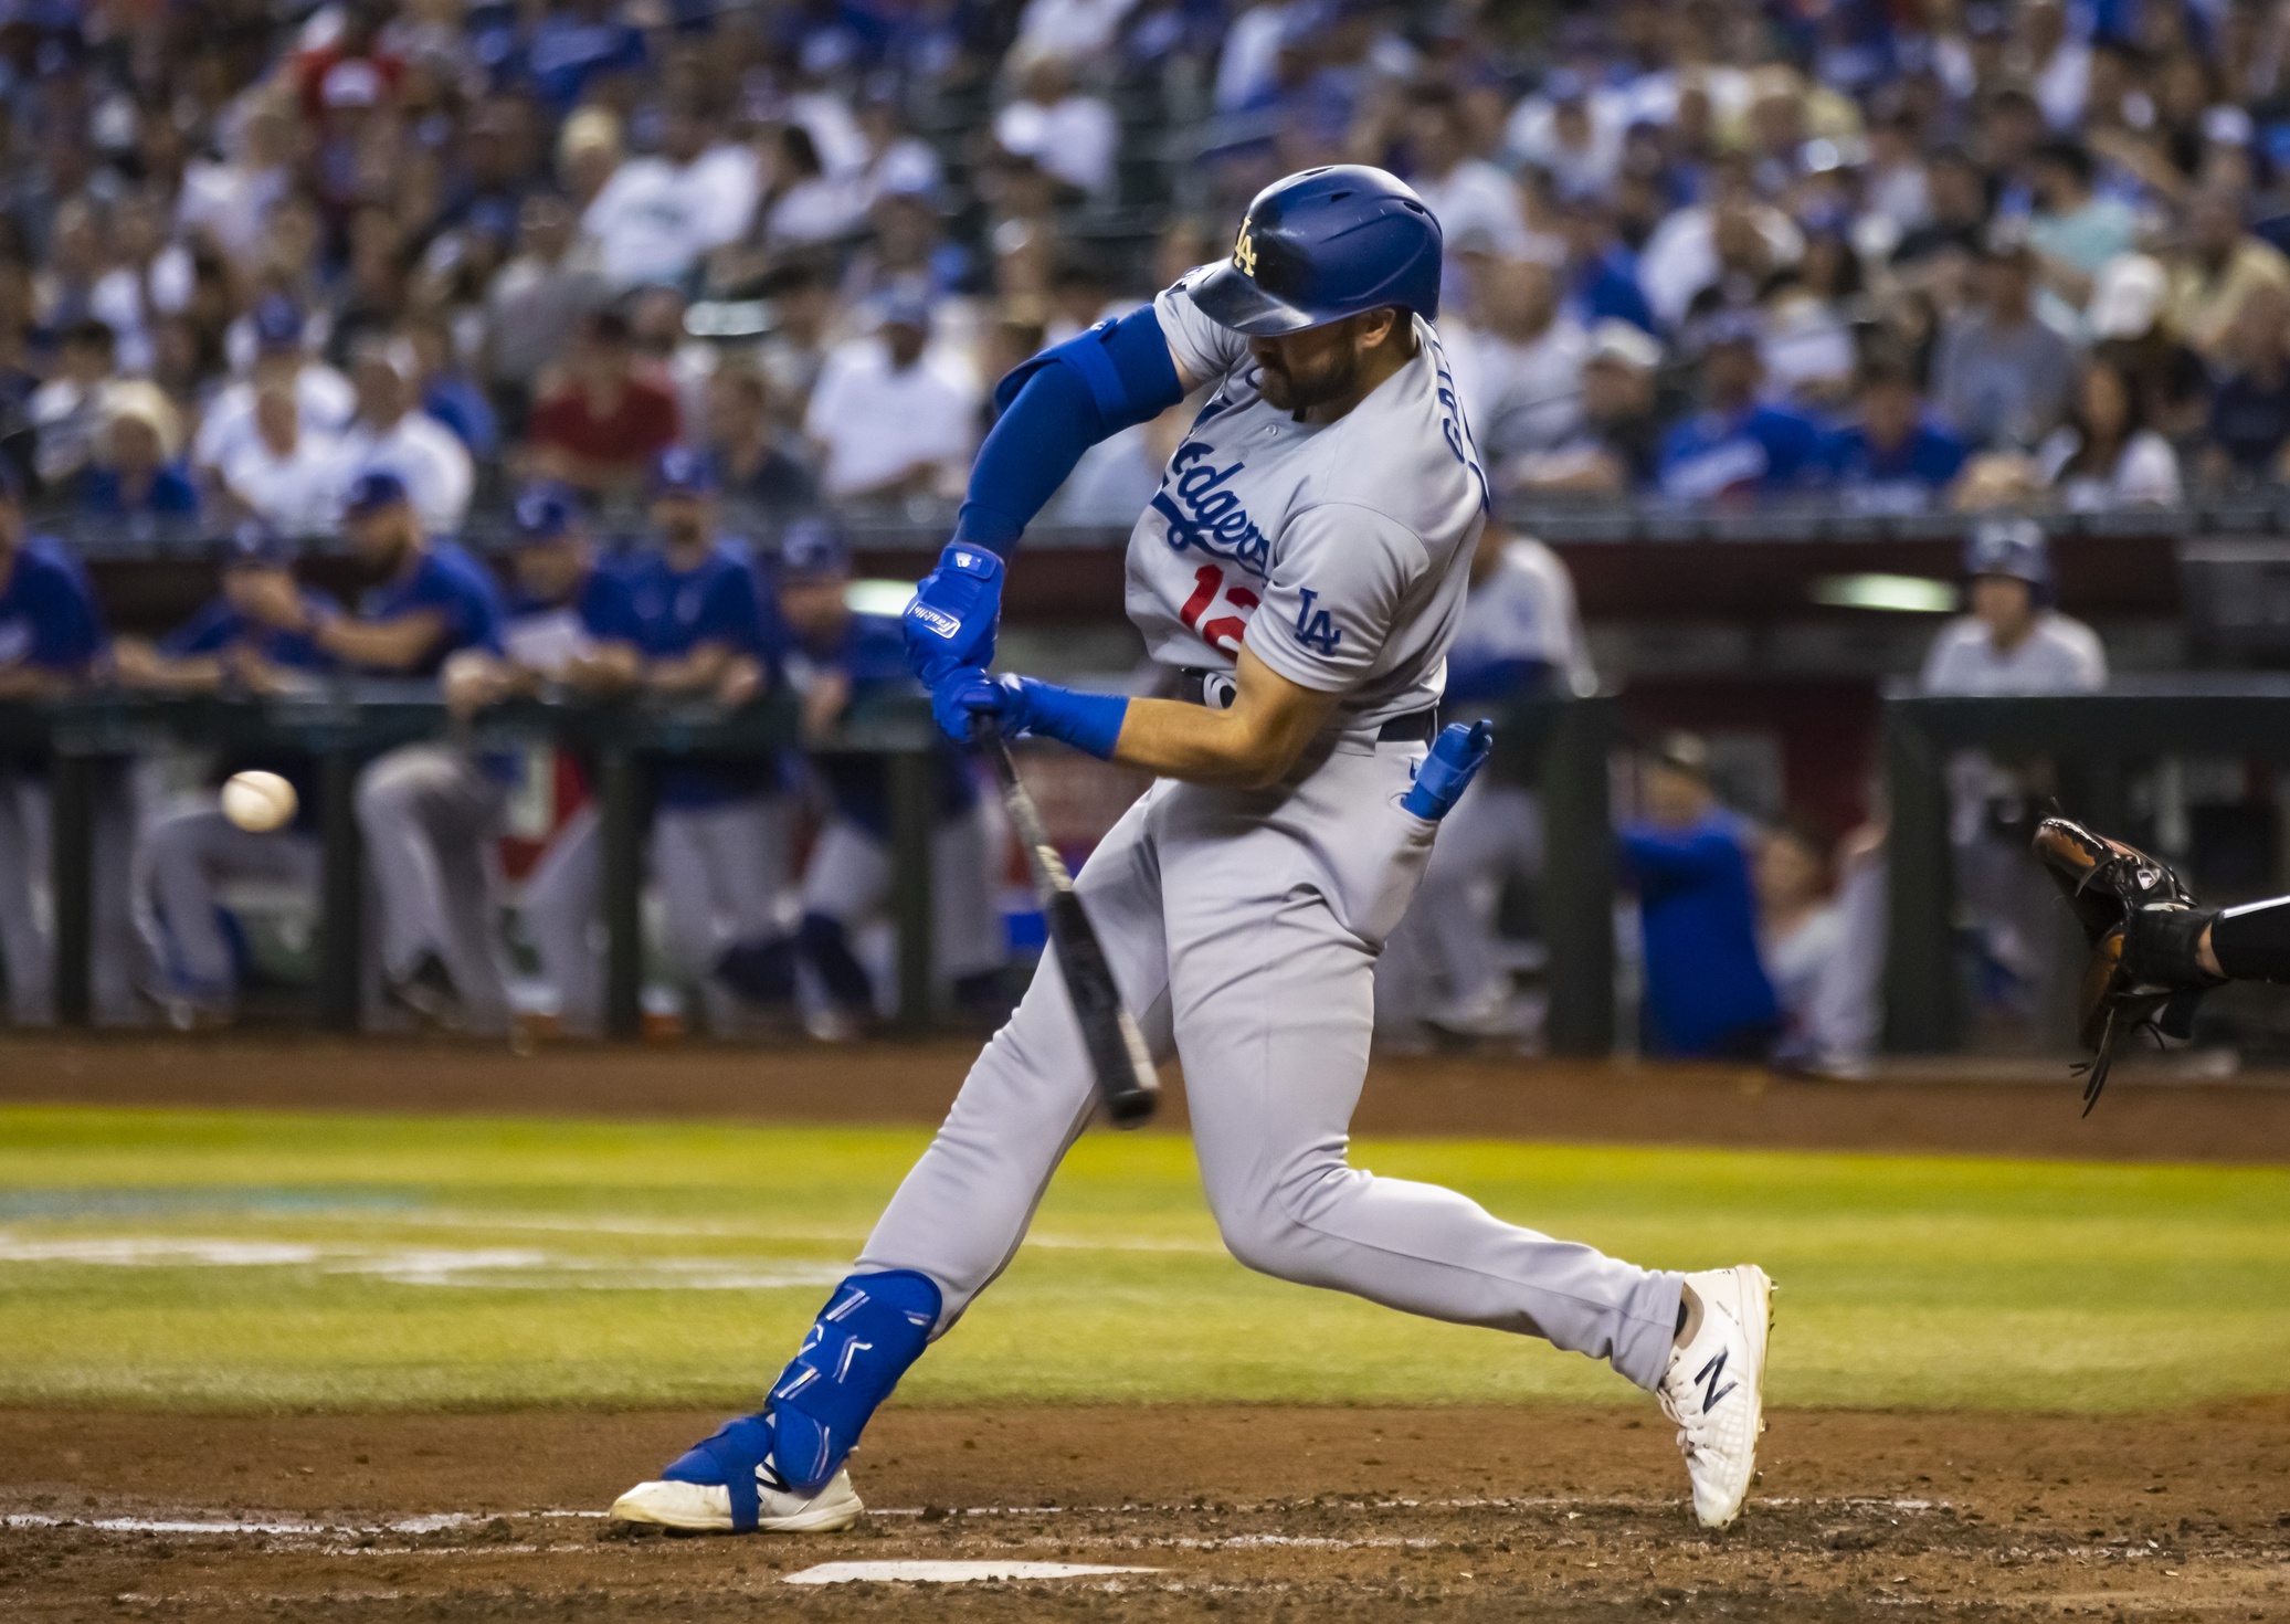
[[1216,380],[1129,531],[1129,618],[1161,664],[1225,669],[1241,644],[1351,724],[1438,703],[1486,476],[1431,323],[1418,355],[1333,424],[1257,394],[1248,341],[1191,277],[1154,312],[1193,383]]

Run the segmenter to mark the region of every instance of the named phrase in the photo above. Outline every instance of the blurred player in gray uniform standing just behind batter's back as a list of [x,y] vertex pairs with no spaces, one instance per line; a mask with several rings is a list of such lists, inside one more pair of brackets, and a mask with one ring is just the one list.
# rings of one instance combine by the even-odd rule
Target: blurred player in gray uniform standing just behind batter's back
[[[1525,694],[1598,692],[1573,580],[1543,543],[1488,522],[1447,651],[1447,715],[1491,715]],[[1376,1028],[1401,1044],[1418,1022],[1456,1038],[1521,1038],[1495,900],[1511,875],[1543,870],[1541,799],[1523,783],[1472,781],[1440,820],[1406,919],[1376,960]],[[1431,985],[1445,985],[1434,1001]]]

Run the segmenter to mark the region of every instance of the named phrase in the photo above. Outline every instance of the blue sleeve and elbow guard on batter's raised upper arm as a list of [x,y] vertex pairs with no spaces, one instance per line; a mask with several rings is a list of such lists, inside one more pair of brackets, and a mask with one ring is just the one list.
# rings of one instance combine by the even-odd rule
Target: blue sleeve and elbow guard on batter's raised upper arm
[[1152,305],[1099,321],[994,385],[1001,419],[978,449],[955,541],[1003,557],[1099,440],[1184,399]]

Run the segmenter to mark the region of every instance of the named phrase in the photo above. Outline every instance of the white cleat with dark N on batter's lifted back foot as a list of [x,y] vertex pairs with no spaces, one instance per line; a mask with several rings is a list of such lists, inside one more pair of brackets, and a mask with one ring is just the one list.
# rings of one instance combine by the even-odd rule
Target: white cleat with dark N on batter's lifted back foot
[[1685,1276],[1701,1299],[1701,1329],[1669,1351],[1656,1397],[1679,1422],[1679,1454],[1695,1484],[1695,1516],[1724,1528],[1756,1477],[1756,1434],[1766,1429],[1766,1335],[1772,1280],[1756,1264]]

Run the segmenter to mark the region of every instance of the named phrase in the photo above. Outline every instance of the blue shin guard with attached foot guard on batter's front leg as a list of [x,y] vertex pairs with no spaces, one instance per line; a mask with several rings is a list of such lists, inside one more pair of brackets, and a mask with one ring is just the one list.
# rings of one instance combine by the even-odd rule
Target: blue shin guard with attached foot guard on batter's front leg
[[678,1454],[662,1480],[721,1484],[731,1493],[731,1526],[742,1535],[763,1514],[756,1473],[765,1459],[792,1493],[818,1493],[843,1468],[875,1406],[923,1356],[941,1301],[939,1287],[911,1269],[850,1276],[779,1372],[765,1411],[724,1422]]

